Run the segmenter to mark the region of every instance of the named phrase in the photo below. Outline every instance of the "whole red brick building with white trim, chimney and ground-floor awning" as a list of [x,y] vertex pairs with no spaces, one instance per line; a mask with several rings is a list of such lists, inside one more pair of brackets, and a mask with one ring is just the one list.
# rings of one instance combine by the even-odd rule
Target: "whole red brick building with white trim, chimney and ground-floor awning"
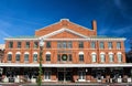
[[97,35],[97,22],[91,25],[87,29],[62,19],[36,30],[33,36],[7,37],[0,65],[3,82],[36,80],[41,39],[45,43],[43,82],[131,82],[125,39]]

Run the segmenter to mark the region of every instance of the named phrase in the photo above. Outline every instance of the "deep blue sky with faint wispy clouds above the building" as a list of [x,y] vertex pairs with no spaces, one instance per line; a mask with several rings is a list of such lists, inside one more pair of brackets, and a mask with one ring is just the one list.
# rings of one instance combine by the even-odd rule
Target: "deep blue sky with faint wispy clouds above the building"
[[63,18],[87,28],[97,20],[98,35],[132,37],[132,0],[0,0],[0,43]]

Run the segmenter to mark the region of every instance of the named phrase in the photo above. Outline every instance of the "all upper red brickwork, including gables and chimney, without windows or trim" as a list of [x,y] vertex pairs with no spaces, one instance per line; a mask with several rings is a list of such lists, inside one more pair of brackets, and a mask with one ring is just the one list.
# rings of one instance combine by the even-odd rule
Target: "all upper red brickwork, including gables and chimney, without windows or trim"
[[[57,30],[61,30],[63,28],[66,28],[66,29],[69,29],[69,30],[73,30],[79,34],[82,34],[82,35],[86,35],[86,36],[97,36],[97,24],[96,24],[96,21],[92,22],[92,30],[89,30],[89,29],[85,29],[80,25],[77,25],[75,23],[72,23],[69,22],[68,20],[62,20],[61,22],[58,23],[55,23],[55,24],[52,24],[50,26],[46,26],[44,29],[41,29],[41,30],[37,30],[35,32],[35,35],[36,36],[43,36],[43,35],[47,35],[48,33],[52,33],[54,31],[57,31]],[[57,49],[57,42],[59,40],[56,40],[54,41],[54,39],[61,39],[61,41],[67,41],[67,40],[63,40],[63,39],[84,39],[82,36],[79,36],[79,35],[76,35],[72,32],[68,32],[68,31],[64,31],[64,32],[61,32],[58,34],[55,34],[55,35],[52,35],[50,36],[48,39],[53,39],[53,41],[51,41],[51,49],[46,49],[46,46],[44,46],[43,49],[43,55],[45,55],[46,52],[51,52],[51,63],[57,63],[57,52],[58,51],[72,51],[73,53],[73,61],[72,63],[74,64],[78,64],[79,61],[78,61],[78,53],[81,51],[84,52],[84,62],[85,64],[90,64],[92,63],[91,62],[91,53],[95,52],[97,54],[97,62],[96,63],[101,63],[100,62],[100,53],[103,52],[106,54],[106,62],[105,63],[109,63],[109,52],[112,52],[113,53],[113,62],[112,63],[118,63],[118,57],[117,57],[117,53],[120,52],[122,53],[122,62],[121,63],[125,63],[125,53],[124,53],[124,43],[123,41],[120,41],[120,40],[105,40],[105,41],[101,41],[101,40],[97,40],[95,41],[96,42],[96,49],[91,49],[90,46],[90,43],[92,41],[86,41],[84,40],[84,49],[78,49],[78,42],[79,40],[77,41],[72,41],[73,43],[73,47],[72,49]],[[109,39],[109,37],[108,37]],[[9,42],[13,42],[13,47],[12,49],[9,49]],[[47,42],[48,40],[44,41],[45,43]],[[21,49],[18,49],[16,47],[16,43],[18,42],[21,42]],[[25,42],[30,42],[30,49],[25,49]],[[34,40],[7,40],[6,41],[6,55],[4,55],[4,60],[3,62],[7,62],[7,55],[8,55],[8,52],[12,52],[12,63],[15,63],[15,53],[16,52],[21,52],[21,60],[20,62],[23,63],[24,62],[24,52],[29,52],[30,53],[30,56],[29,56],[29,63],[33,63],[33,52],[40,52],[40,49],[34,49],[33,47],[33,44],[34,44]],[[38,42],[38,40],[37,40]],[[99,47],[99,43],[100,42],[103,42],[105,43],[105,49],[100,49]],[[109,50],[108,49],[108,42],[112,42],[112,49]],[[117,49],[117,42],[121,42],[121,49],[118,50]],[[43,62],[45,62],[45,56],[43,56]],[[70,63],[70,64],[72,64]]]

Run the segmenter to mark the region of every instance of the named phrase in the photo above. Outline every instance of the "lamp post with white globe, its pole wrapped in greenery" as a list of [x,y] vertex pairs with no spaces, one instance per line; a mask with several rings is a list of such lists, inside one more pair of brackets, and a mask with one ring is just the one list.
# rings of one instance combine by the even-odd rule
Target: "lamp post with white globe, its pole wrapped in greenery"
[[37,86],[41,86],[42,85],[42,55],[43,55],[43,46],[44,46],[43,39],[41,39],[38,45],[40,45],[40,67],[38,67]]

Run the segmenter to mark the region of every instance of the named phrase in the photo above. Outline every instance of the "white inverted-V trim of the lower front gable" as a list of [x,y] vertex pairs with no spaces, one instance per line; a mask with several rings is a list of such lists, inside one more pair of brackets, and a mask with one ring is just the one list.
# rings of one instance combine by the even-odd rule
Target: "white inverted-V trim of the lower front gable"
[[62,32],[64,32],[64,31],[70,32],[70,33],[73,33],[73,34],[75,34],[75,35],[78,35],[78,36],[81,36],[82,39],[88,39],[88,36],[82,35],[82,34],[80,34],[80,33],[78,33],[78,32],[75,32],[75,31],[73,31],[73,30],[70,30],[70,29],[66,29],[66,28],[63,28],[63,29],[57,30],[57,31],[54,31],[54,32],[52,32],[52,33],[50,33],[50,34],[43,35],[43,36],[41,36],[40,39],[48,39],[48,37],[51,37],[51,36],[54,36],[54,35],[56,35],[56,34],[58,34],[58,33],[62,33]]

